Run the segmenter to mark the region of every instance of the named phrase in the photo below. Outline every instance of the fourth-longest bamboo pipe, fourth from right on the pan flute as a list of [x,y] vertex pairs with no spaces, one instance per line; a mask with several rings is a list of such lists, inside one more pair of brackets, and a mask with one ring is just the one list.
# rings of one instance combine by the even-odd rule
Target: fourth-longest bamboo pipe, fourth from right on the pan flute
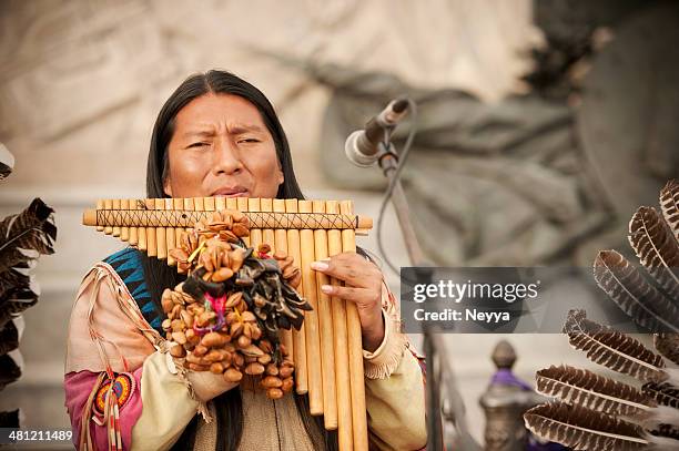
[[[312,213],[311,201],[297,203],[300,213]],[[323,414],[323,380],[321,372],[321,337],[318,334],[318,299],[316,296],[316,277],[311,268],[314,262],[314,232],[305,228],[300,230],[302,254],[302,284],[304,296],[313,310],[304,315],[304,330],[306,335],[306,366],[308,378],[308,404],[313,416]]]

